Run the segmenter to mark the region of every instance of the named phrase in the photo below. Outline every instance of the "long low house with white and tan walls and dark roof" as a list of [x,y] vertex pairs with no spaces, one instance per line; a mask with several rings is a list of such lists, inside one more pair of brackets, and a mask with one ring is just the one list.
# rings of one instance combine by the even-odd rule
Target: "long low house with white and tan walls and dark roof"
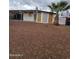
[[9,10],[9,18],[37,23],[54,23],[56,13],[41,10]]

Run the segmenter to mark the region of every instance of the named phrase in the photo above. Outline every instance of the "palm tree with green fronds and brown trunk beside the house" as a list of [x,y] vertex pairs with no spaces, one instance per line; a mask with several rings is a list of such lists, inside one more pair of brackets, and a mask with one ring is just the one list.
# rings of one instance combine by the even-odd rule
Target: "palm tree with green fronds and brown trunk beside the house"
[[66,1],[60,1],[57,3],[51,3],[51,5],[48,5],[48,7],[51,9],[52,12],[56,12],[56,18],[55,18],[55,25],[58,25],[59,23],[59,11],[65,10],[64,7],[67,5],[68,3]]

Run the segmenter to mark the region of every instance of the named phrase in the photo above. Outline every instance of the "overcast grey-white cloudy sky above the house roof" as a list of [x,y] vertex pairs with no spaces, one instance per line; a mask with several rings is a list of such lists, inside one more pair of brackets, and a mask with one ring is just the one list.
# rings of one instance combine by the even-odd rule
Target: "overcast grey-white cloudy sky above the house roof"
[[[49,11],[47,7],[51,2],[58,2],[61,0],[9,0],[9,9],[10,10],[33,10],[39,7],[39,10]],[[62,0],[68,1],[69,0]]]

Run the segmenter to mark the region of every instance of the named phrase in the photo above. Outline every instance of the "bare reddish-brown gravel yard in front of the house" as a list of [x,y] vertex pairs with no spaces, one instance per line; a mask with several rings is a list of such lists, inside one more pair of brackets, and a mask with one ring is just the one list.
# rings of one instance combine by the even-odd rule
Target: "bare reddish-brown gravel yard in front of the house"
[[69,26],[9,23],[9,59],[70,59]]

